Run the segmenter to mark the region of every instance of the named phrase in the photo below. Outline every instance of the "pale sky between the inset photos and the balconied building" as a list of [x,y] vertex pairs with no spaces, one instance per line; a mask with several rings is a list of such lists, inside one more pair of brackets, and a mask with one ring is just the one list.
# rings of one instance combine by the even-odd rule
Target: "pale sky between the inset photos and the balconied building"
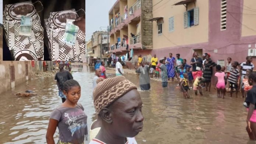
[[[109,25],[109,11],[117,0],[85,0],[85,35],[88,41],[93,32]],[[107,28],[102,28],[107,30]]]

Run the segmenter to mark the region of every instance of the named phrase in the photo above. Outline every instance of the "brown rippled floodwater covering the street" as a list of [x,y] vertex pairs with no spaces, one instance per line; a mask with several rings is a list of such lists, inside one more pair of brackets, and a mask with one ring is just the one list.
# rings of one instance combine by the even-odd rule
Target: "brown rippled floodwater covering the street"
[[[82,87],[79,102],[88,115],[88,125],[96,119],[92,101],[93,69],[74,66],[72,75]],[[113,76],[113,75],[112,75]],[[125,77],[139,86],[138,75]],[[254,144],[246,133],[246,109],[243,99],[217,98],[210,94],[184,99],[176,83],[163,89],[161,82],[151,80],[152,90],[140,91],[143,101],[144,129],[136,136],[138,144]],[[38,95],[19,98],[19,91],[33,90]],[[227,93],[228,95],[229,93]],[[15,90],[1,94],[0,143],[42,144],[49,115],[61,104],[54,78],[32,79]],[[54,136],[58,140],[58,129]],[[86,144],[89,142],[86,141]]]

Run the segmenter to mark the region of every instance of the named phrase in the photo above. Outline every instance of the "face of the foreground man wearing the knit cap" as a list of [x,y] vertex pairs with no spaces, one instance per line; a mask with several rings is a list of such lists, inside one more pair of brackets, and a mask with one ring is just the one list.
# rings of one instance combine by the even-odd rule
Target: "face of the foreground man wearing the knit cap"
[[131,90],[111,106],[113,131],[120,137],[135,137],[143,129],[142,101],[137,90]]

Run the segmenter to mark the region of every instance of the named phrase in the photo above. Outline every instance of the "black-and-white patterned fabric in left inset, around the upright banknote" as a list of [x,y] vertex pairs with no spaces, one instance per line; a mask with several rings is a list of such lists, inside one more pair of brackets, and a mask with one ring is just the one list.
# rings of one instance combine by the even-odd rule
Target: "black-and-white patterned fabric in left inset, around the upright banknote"
[[[32,17],[31,36],[19,35],[21,25],[21,11],[19,7],[26,6],[26,17]],[[14,59],[43,60],[43,27],[35,7],[31,1],[7,4],[3,11],[3,26],[6,31],[7,45],[13,51]]]

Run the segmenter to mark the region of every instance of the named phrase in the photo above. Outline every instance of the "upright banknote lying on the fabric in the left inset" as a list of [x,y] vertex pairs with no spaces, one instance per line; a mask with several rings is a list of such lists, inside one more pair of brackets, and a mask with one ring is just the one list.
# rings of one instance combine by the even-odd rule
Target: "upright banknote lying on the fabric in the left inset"
[[32,17],[21,16],[19,35],[31,36]]

